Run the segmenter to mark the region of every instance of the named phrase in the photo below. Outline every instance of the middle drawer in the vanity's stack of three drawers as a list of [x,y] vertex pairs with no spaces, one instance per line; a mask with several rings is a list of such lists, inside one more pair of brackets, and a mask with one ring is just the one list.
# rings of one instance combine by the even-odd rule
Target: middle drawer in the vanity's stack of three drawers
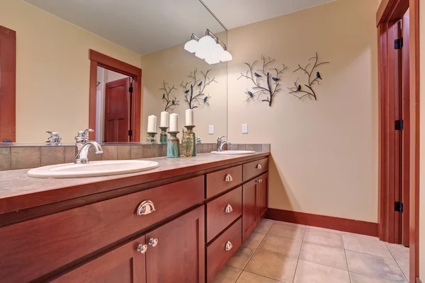
[[207,204],[207,243],[242,215],[242,187]]

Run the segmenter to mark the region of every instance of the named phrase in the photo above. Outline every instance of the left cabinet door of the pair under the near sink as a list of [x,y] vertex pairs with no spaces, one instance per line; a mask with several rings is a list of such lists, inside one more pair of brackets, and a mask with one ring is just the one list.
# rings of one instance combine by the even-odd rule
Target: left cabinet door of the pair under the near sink
[[60,275],[52,282],[146,283],[147,249],[145,236],[142,236]]

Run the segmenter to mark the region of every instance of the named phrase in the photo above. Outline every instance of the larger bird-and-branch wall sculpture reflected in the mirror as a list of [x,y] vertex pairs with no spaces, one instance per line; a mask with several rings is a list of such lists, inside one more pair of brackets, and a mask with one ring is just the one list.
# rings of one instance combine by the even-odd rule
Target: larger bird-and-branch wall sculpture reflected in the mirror
[[205,88],[211,83],[217,83],[217,81],[215,81],[215,77],[210,79],[208,76],[210,71],[211,69],[205,73],[200,71],[203,78],[198,79],[198,69],[195,69],[191,71],[190,75],[188,75],[190,79],[186,81],[186,83],[184,81],[180,83],[180,86],[184,91],[184,101],[188,103],[190,109],[198,108],[198,106],[210,105],[211,96],[209,94],[205,94]]

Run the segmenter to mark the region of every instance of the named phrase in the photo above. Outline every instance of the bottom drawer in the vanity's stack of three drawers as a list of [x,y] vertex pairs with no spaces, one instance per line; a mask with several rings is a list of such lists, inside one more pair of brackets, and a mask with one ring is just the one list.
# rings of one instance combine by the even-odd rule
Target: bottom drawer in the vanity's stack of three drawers
[[[232,248],[227,246],[227,243],[232,244]],[[207,282],[220,272],[226,262],[232,258],[237,249],[242,245],[242,219],[239,219],[232,226],[222,233],[220,237],[215,239],[207,248]]]

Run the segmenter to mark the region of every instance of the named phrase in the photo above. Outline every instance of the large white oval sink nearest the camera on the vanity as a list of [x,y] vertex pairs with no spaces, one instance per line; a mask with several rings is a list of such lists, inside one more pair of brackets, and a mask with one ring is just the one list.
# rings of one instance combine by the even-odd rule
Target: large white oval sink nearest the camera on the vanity
[[147,171],[158,166],[158,162],[145,160],[93,161],[89,164],[66,163],[31,169],[28,171],[28,176],[35,178],[98,177]]

